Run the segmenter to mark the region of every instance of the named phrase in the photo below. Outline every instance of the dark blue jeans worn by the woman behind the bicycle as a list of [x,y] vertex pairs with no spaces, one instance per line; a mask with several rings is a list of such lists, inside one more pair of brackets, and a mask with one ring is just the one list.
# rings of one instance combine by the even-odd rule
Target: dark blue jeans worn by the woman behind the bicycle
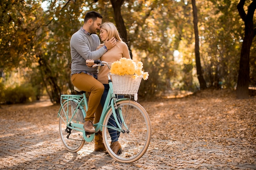
[[[107,95],[108,95],[108,90],[109,90],[109,85],[108,84],[103,84],[104,85],[104,92],[103,95],[101,96],[101,106],[102,108],[104,107]],[[122,98],[122,96],[119,96],[119,98]],[[117,119],[119,121],[120,126],[122,126],[122,122],[120,119],[119,114],[117,114]],[[113,126],[113,127],[117,127],[117,123],[115,121],[115,118],[113,116],[113,114],[110,116],[110,119],[108,120],[108,126]],[[120,132],[118,132],[117,130],[114,130],[112,128],[108,128],[108,132],[110,134],[111,137],[111,143],[118,141],[118,138],[120,136]]]

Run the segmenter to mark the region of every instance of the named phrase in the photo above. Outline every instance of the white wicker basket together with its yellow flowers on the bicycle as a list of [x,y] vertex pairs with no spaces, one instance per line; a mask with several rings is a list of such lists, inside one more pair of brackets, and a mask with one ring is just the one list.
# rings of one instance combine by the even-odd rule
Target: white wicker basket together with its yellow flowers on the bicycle
[[135,95],[135,100],[137,100],[141,79],[148,79],[148,72],[142,71],[142,68],[142,62],[136,63],[127,58],[121,58],[119,61],[113,62],[110,75],[114,93]]

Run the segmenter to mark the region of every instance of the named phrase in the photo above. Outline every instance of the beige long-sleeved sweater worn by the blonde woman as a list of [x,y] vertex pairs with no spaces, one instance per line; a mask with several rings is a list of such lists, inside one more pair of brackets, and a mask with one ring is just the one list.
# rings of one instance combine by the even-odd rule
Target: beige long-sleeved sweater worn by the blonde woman
[[[103,44],[101,44],[97,49],[101,48]],[[101,61],[104,62],[115,62],[121,59],[121,57],[130,58],[130,53],[128,50],[128,46],[124,42],[117,41],[117,44],[110,50],[108,50],[105,54],[103,54],[100,58]],[[99,68],[98,80],[102,84],[108,84],[108,66],[101,66]]]

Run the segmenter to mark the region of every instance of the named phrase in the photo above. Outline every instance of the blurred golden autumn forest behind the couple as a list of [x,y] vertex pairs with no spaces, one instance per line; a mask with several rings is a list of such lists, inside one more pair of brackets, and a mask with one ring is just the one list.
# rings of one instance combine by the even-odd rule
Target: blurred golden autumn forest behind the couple
[[115,23],[132,58],[144,63],[149,79],[141,97],[236,89],[241,82],[247,98],[248,87],[256,87],[256,0],[240,1],[1,0],[0,103],[44,96],[58,103],[74,93],[70,38],[89,10]]

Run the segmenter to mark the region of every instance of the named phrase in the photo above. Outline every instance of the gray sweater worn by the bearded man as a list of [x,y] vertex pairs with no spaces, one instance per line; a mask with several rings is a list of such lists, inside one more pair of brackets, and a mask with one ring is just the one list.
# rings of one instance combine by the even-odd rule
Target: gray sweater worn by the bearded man
[[106,53],[106,50],[101,47],[96,51],[100,44],[97,34],[87,35],[81,29],[74,33],[70,39],[71,50],[71,74],[88,71],[97,73],[98,68],[90,68],[86,66],[85,60],[97,60]]

